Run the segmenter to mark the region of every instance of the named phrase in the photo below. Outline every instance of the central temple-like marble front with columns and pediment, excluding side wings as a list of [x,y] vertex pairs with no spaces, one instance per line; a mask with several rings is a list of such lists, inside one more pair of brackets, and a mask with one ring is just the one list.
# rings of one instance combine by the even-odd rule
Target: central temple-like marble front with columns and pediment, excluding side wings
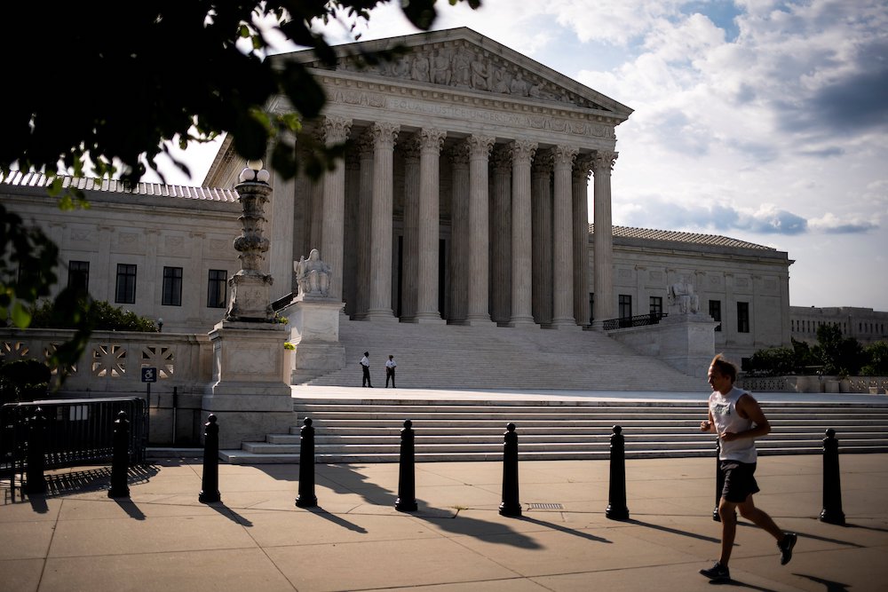
[[[352,145],[316,182],[273,182],[272,225],[294,237],[293,258],[321,245],[330,296],[353,319],[588,325],[588,183],[605,252],[614,130],[631,109],[469,29],[363,44],[394,43],[407,53],[375,67],[356,67],[348,45],[332,70],[279,57],[313,67],[327,92],[314,132]],[[210,185],[237,166],[223,152]],[[604,294],[612,261],[594,269]],[[271,272],[285,296],[292,272]],[[595,306],[616,315],[612,298]]]

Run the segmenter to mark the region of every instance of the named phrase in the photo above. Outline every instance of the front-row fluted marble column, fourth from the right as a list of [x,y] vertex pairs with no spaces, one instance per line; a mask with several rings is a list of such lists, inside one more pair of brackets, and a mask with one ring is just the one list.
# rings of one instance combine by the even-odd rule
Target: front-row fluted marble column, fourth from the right
[[490,210],[488,156],[495,138],[470,136],[469,144],[469,311],[468,325],[490,324]]

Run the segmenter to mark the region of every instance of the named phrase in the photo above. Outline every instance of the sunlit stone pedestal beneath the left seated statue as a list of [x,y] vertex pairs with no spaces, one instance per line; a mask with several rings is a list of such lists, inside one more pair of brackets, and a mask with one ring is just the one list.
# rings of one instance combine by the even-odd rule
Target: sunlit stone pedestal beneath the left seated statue
[[296,345],[292,383],[304,383],[345,367],[339,343],[339,313],[345,303],[299,295],[289,306],[290,343]]

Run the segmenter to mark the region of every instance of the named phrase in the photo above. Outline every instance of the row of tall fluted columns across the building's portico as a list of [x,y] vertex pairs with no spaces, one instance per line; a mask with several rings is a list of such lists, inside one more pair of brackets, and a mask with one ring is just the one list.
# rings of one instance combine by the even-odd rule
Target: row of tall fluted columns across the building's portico
[[[321,127],[323,140],[342,143],[351,127],[349,119],[328,116]],[[395,123],[371,124],[356,138],[359,167],[350,172],[358,183],[356,233],[350,242],[357,257],[350,269],[362,287],[355,290],[353,312],[367,320],[397,320],[392,313],[392,164],[399,133]],[[405,157],[402,273],[407,279],[402,320],[411,322],[444,322],[439,310],[439,162],[445,138],[446,130],[429,128],[400,141]],[[510,327],[587,323],[590,171],[595,179],[594,314],[596,320],[613,318],[610,174],[616,154],[579,154],[575,146],[543,151],[523,139],[496,145],[496,151],[494,146],[495,138],[474,135],[448,150],[453,186],[448,318]],[[321,245],[333,270],[329,294],[337,299],[343,297],[345,189],[345,163],[337,162],[309,195],[310,240]],[[497,229],[493,237],[488,208]],[[511,288],[496,291],[492,303],[491,281]]]

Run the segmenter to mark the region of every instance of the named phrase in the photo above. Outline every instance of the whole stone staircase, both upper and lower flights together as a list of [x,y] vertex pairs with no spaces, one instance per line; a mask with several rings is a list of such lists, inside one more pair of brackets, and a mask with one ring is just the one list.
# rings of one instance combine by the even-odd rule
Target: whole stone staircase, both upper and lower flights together
[[[345,368],[313,378],[305,387],[311,396],[294,399],[298,422],[312,419],[316,462],[398,462],[406,420],[416,433],[417,462],[500,460],[509,422],[517,426],[524,460],[607,458],[614,425],[622,427],[629,458],[714,454],[715,437],[699,429],[706,417],[705,379],[638,355],[602,333],[344,320],[340,342]],[[350,397],[335,387],[360,386],[363,351],[370,352],[375,388]],[[399,389],[381,391],[388,354],[398,362]],[[399,397],[405,387],[410,394]],[[498,391],[521,394],[502,397]],[[602,396],[559,397],[552,391]],[[665,394],[618,400],[607,391]],[[761,454],[819,454],[828,428],[836,430],[843,452],[888,452],[888,398],[872,404],[778,403],[767,402],[765,394],[759,400],[773,432],[758,441]],[[220,457],[233,464],[299,462],[300,428],[220,451]]]

